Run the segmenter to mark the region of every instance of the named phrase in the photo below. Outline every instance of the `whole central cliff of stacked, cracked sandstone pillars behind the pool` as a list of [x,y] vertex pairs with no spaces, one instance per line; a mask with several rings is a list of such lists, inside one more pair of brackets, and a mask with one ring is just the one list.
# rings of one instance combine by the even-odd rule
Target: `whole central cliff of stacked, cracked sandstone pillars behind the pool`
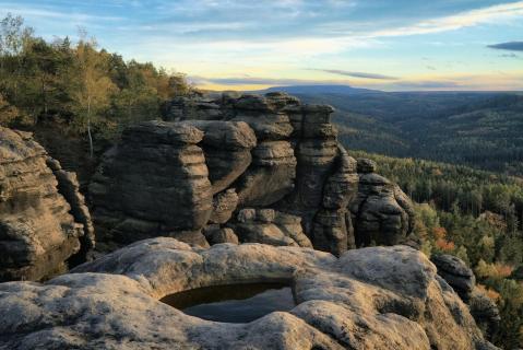
[[[173,121],[130,127],[105,155],[90,187],[98,240],[312,244],[334,254],[403,242],[409,199],[349,156],[332,112],[282,93],[174,101]],[[280,220],[249,219],[251,209]]]

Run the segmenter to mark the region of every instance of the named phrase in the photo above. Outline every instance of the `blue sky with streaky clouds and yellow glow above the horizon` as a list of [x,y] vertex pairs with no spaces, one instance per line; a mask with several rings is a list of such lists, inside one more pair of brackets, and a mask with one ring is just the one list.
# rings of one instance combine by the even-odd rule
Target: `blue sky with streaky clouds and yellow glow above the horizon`
[[0,0],[9,12],[202,89],[523,90],[523,1]]

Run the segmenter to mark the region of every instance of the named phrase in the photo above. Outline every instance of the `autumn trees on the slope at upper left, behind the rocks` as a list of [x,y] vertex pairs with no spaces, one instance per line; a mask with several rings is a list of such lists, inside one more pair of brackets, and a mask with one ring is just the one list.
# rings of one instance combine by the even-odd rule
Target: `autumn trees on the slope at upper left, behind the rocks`
[[112,139],[129,122],[161,118],[163,103],[190,91],[185,75],[126,61],[79,30],[47,42],[21,16],[0,22],[0,125]]

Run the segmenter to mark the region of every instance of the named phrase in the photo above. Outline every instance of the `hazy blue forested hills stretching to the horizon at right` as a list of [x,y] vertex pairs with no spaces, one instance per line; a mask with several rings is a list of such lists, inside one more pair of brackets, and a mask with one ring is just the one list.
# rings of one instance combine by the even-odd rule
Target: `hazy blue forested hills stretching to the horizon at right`
[[354,88],[349,86],[334,93],[325,86],[292,88],[318,91],[290,89],[289,93],[307,103],[336,108],[333,120],[349,149],[523,176],[521,93],[388,93],[365,89],[350,93]]

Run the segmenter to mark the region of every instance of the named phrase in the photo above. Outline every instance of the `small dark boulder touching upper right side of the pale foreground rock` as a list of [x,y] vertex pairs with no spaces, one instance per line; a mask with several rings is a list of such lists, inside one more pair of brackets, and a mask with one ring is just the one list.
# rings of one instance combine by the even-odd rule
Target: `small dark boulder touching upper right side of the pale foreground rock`
[[468,302],[476,285],[476,277],[459,257],[449,254],[437,254],[430,260],[438,268],[438,275],[449,283],[464,302]]

